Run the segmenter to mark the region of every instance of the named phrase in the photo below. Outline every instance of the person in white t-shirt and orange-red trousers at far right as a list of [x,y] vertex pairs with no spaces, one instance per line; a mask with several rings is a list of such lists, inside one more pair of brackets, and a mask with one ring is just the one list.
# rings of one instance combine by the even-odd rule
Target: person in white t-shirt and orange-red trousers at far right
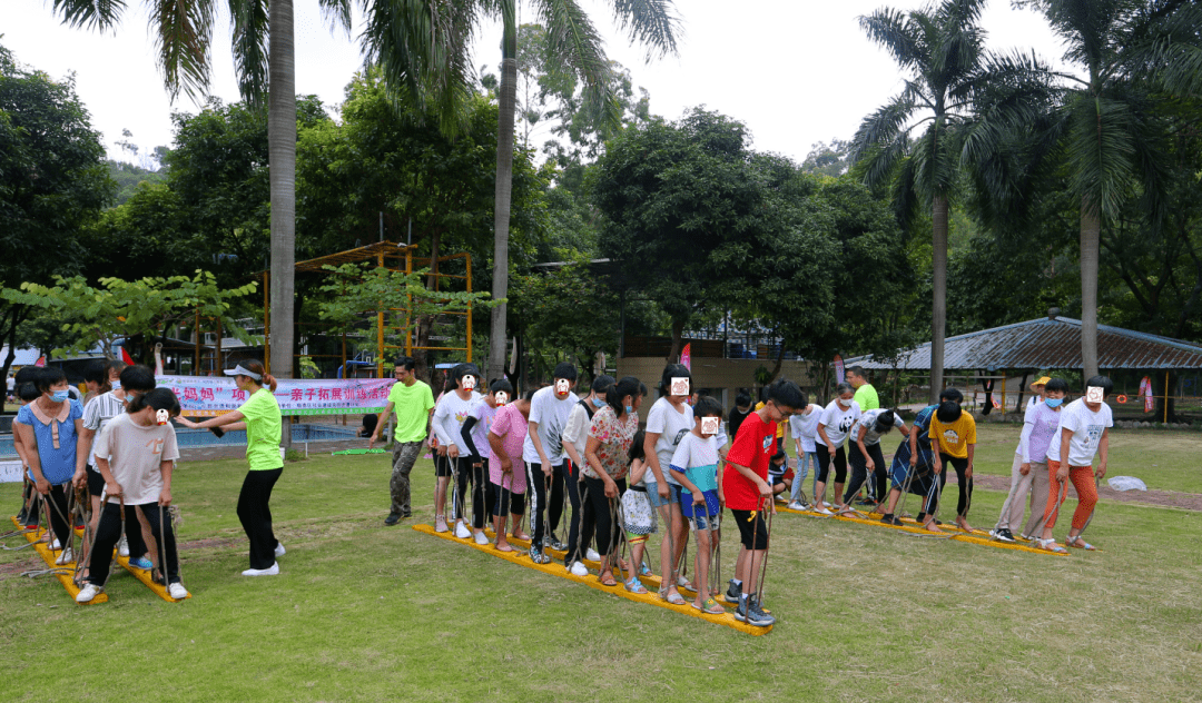
[[[1081,538],[1097,505],[1097,481],[1106,476],[1106,461],[1111,447],[1111,428],[1114,418],[1106,398],[1114,391],[1114,383],[1106,376],[1093,376],[1085,381],[1085,397],[1070,403],[1060,412],[1060,428],[1048,445],[1048,502],[1043,510],[1043,536],[1039,546],[1048,552],[1065,552],[1055,543],[1055,528],[1060,505],[1067,498],[1069,481],[1077,489],[1077,510],[1072,513],[1072,529],[1064,543],[1077,549],[1096,549]],[[1094,457],[1100,457],[1094,470]]]

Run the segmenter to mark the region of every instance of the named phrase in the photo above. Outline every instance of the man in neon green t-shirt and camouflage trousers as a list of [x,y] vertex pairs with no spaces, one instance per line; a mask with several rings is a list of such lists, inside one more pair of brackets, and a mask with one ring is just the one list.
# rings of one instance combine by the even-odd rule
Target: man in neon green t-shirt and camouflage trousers
[[430,434],[430,417],[434,415],[434,393],[429,385],[418,381],[413,375],[416,363],[412,357],[397,357],[394,374],[397,383],[388,392],[388,404],[385,405],[376,428],[368,440],[368,448],[380,437],[380,428],[388,423],[388,416],[397,411],[397,427],[392,433],[392,511],[383,524],[395,525],[401,518],[412,514],[409,506],[409,472],[413,470],[417,457],[426,446]]

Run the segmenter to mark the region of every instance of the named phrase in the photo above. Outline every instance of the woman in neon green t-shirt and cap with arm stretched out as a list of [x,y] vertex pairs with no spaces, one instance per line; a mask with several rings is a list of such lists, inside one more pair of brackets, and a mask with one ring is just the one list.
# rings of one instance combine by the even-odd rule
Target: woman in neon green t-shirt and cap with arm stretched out
[[238,519],[250,540],[250,568],[243,576],[275,576],[280,572],[276,556],[284,555],[284,544],[272,530],[272,489],[284,472],[280,457],[280,405],[275,401],[275,379],[263,370],[260,362],[243,362],[227,370],[238,389],[246,393],[246,401],[238,410],[212,417],[204,422],[192,422],[183,417],[177,422],[189,428],[216,428],[246,430],[246,461],[250,471],[242,482],[238,494]]

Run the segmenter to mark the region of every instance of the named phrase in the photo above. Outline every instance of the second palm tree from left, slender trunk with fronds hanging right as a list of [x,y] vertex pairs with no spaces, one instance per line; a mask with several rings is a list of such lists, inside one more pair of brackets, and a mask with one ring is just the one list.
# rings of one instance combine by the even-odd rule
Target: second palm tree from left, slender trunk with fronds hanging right
[[[593,22],[576,0],[531,0],[535,14],[547,32],[547,62],[570,72],[584,83],[585,100],[601,107],[609,121],[621,115],[611,93],[609,62]],[[508,294],[510,196],[513,183],[513,121],[517,109],[517,0],[482,0],[481,10],[499,16],[504,26],[501,40],[500,114],[496,138],[496,195],[493,242],[493,298]],[[678,19],[672,0],[630,2],[612,0],[619,25],[631,41],[648,47],[647,60],[677,50]],[[507,311],[505,304],[493,308],[488,347],[488,377],[498,379],[505,369]]]

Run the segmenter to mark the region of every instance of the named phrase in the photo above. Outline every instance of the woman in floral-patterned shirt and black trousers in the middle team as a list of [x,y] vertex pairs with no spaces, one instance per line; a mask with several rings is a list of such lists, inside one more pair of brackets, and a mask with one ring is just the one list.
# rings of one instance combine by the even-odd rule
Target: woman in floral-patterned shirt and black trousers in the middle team
[[601,558],[602,585],[613,586],[613,544],[617,500],[626,490],[630,445],[638,431],[638,406],[647,394],[647,386],[626,376],[609,387],[606,406],[593,416],[589,440],[584,448],[584,483],[596,516],[597,552]]

